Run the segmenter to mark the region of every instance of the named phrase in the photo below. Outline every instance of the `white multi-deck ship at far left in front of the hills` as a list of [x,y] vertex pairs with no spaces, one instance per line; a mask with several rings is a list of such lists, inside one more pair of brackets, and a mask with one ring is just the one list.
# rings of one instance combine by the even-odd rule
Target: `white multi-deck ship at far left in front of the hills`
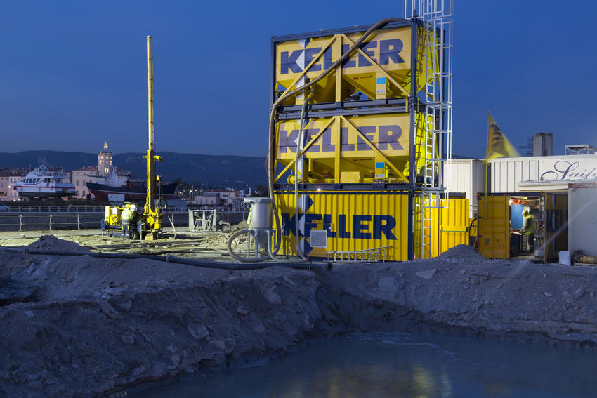
[[20,197],[72,197],[77,194],[77,190],[68,180],[67,171],[50,170],[42,164],[15,183],[14,188]]

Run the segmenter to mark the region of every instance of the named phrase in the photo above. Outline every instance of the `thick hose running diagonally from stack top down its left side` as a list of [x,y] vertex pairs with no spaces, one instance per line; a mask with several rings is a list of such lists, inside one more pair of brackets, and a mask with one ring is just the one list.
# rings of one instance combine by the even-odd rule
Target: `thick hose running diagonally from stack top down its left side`
[[[388,23],[390,23],[390,22],[396,22],[396,21],[400,21],[400,20],[402,20],[402,18],[384,18],[383,20],[380,20],[376,24],[372,25],[372,27],[369,27],[369,29],[367,29],[367,32],[362,34],[360,39],[358,39],[355,42],[355,44],[353,44],[353,46],[350,47],[348,49],[348,51],[346,51],[346,53],[344,53],[340,58],[338,58],[338,60],[336,60],[336,62],[334,62],[332,65],[330,65],[327,69],[325,69],[319,76],[317,76],[315,79],[310,81],[308,84],[305,84],[304,86],[296,88],[295,90],[290,91],[286,95],[282,95],[280,98],[278,98],[273,103],[272,110],[270,112],[270,124],[268,127],[269,132],[268,132],[268,170],[267,170],[267,174],[268,174],[268,188],[270,190],[270,199],[274,200],[274,172],[275,172],[275,170],[274,170],[274,155],[275,154],[274,154],[273,144],[274,144],[274,133],[275,133],[275,116],[277,113],[277,107],[279,107],[280,104],[287,98],[290,98],[291,96],[301,93],[301,91],[305,91],[310,86],[317,84],[318,81],[320,81],[321,79],[326,77],[327,74],[332,72],[332,70],[339,67],[339,65],[341,65],[341,63],[344,60],[346,60],[346,58],[348,58],[351,53],[353,53],[355,48],[359,48],[359,46],[362,44],[362,42],[365,41],[365,39],[367,39],[367,37],[369,37],[369,35],[372,34],[372,32],[374,32],[376,29],[381,29],[382,27],[388,25]],[[273,204],[273,213],[274,213],[274,218],[276,221],[277,230],[280,231],[280,219],[278,218],[278,215],[277,215],[277,208],[275,206],[275,201]],[[277,251],[280,250],[280,242],[281,241],[282,241],[281,234],[279,234],[279,233],[276,234],[276,245],[274,246],[273,253],[277,253]]]

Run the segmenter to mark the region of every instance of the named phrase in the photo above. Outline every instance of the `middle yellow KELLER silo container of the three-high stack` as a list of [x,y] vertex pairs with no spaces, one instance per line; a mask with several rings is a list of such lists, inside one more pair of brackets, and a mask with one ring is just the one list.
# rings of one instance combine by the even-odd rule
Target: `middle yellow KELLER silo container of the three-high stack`
[[[424,115],[416,114],[415,161],[417,172],[425,164]],[[428,117],[428,124],[433,119]],[[334,116],[310,119],[299,151],[298,179],[305,183],[407,183],[409,177],[410,114]],[[277,176],[294,171],[300,121],[276,125]],[[427,139],[426,139],[427,136]],[[428,149],[427,159],[433,158]],[[304,164],[303,164],[304,161]]]

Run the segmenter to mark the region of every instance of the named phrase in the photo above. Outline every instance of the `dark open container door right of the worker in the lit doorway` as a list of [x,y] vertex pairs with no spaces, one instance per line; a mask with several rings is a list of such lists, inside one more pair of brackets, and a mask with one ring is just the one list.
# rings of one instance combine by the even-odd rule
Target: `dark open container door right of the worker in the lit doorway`
[[537,252],[544,263],[557,260],[560,250],[568,250],[568,194],[544,193],[541,197],[542,223],[537,223]]

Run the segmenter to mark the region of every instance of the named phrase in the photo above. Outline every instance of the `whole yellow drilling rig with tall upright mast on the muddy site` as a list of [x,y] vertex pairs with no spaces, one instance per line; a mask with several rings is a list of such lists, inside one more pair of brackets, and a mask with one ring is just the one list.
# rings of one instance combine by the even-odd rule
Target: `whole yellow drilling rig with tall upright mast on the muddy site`
[[159,190],[159,176],[155,163],[162,157],[155,154],[153,119],[153,56],[152,37],[147,36],[147,114],[149,147],[147,155],[147,197],[143,212],[137,211],[136,204],[125,203],[119,206],[106,206],[102,222],[102,234],[119,236],[123,239],[158,239],[162,235],[162,205],[165,203]]

